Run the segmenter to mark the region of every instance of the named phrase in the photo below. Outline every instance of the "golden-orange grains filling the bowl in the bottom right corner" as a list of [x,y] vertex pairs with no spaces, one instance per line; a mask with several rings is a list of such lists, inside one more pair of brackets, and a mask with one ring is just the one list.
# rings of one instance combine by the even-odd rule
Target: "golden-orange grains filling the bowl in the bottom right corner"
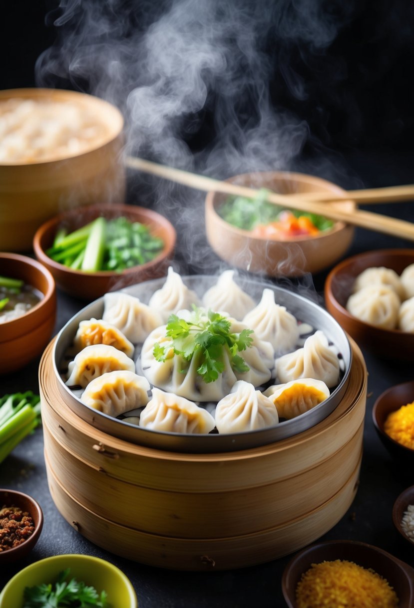
[[372,568],[354,562],[312,564],[296,587],[297,608],[396,608],[398,597]]

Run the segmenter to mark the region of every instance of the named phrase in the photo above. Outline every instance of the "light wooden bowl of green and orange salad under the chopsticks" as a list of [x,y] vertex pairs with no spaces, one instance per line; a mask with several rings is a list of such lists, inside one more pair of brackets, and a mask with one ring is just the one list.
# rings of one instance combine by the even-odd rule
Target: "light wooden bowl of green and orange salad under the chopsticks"
[[347,211],[355,202],[345,199],[338,185],[322,178],[288,171],[245,173],[229,182],[257,190],[254,199],[208,192],[206,234],[214,252],[228,263],[271,277],[299,277],[330,268],[347,251],[354,228],[321,215],[277,206],[268,192],[286,195],[331,192],[344,200],[327,202]]

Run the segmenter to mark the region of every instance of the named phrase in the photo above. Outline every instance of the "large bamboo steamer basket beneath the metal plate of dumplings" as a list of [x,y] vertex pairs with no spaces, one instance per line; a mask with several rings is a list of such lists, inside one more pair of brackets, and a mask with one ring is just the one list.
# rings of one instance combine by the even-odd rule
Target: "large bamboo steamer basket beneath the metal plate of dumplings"
[[64,402],[53,341],[39,366],[50,493],[63,517],[112,553],[177,570],[225,570],[292,553],[330,530],[358,487],[367,371],[316,426],[265,446],[183,454],[96,429]]

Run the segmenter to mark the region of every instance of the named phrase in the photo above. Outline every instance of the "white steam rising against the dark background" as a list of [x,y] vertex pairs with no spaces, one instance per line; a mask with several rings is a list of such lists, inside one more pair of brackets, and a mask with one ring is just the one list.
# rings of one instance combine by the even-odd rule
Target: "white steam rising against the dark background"
[[[338,7],[325,10],[321,0],[61,0],[48,16],[57,38],[38,59],[36,82],[117,105],[129,154],[216,178],[290,170],[309,129],[277,106],[270,82],[277,74],[294,97],[307,98],[287,49],[302,44],[321,54],[351,18],[351,2]],[[177,203],[171,185],[162,186],[158,209],[174,216],[182,246],[200,266],[203,195],[180,190]]]

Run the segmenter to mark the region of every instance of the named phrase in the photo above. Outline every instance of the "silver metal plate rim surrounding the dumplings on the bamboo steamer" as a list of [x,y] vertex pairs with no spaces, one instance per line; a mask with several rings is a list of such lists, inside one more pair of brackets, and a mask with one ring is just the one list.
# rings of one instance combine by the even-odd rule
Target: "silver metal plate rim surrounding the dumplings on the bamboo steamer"
[[[200,299],[205,291],[217,282],[216,275],[191,275],[183,276],[182,279],[188,288],[194,290],[199,295]],[[134,295],[141,302],[148,304],[151,295],[164,285],[165,280],[166,278],[163,277],[138,283],[122,291]],[[238,277],[237,283],[253,297],[256,303],[259,303],[262,297],[263,288],[273,289],[275,300],[279,305],[285,306],[299,322],[308,323],[314,330],[322,330],[328,337],[328,340],[336,347],[342,359],[343,371],[341,381],[325,401],[308,412],[297,416],[297,418],[282,421],[274,427],[228,435],[215,433],[209,435],[190,435],[159,432],[143,429],[135,424],[128,423],[126,420],[119,420],[118,418],[112,418],[112,416],[98,412],[92,407],[86,406],[80,399],[74,396],[72,390],[64,383],[61,371],[66,371],[63,364],[65,353],[72,346],[79,323],[92,317],[95,319],[102,318],[104,299],[101,297],[73,316],[59,331],[56,338],[52,354],[53,369],[59,384],[64,389],[63,393],[66,391],[68,396],[71,397],[67,399],[67,406],[86,423],[121,440],[165,451],[199,454],[231,452],[263,446],[297,435],[324,420],[338,406],[348,384],[352,354],[350,343],[344,330],[325,309],[302,295],[295,294],[270,283],[259,282],[249,278],[243,279]],[[140,348],[141,346],[135,349],[135,360],[139,357]]]

